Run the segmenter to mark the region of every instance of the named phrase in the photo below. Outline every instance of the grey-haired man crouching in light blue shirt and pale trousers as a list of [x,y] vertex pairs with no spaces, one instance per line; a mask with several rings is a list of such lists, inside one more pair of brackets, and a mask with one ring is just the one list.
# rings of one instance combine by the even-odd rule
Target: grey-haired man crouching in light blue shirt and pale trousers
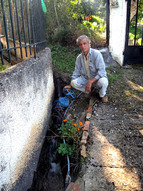
[[82,53],[76,59],[71,84],[64,88],[73,87],[88,95],[91,88],[96,87],[102,102],[107,102],[108,79],[101,53],[90,48],[90,39],[86,35],[78,37],[76,42]]

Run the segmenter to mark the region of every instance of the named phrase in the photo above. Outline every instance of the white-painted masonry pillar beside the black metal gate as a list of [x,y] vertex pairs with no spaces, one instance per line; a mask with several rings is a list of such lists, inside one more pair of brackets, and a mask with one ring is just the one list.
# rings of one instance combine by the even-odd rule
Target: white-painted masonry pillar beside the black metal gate
[[112,58],[120,65],[123,65],[125,35],[126,35],[126,15],[127,1],[118,0],[118,7],[110,6],[110,40],[109,51]]

